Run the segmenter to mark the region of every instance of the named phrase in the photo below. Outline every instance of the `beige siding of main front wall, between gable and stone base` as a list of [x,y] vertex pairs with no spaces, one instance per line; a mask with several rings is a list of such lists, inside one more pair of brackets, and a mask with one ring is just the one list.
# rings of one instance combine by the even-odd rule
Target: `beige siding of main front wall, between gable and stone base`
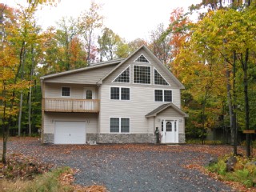
[[[110,133],[110,117],[123,117],[130,118],[130,133],[152,134],[152,127],[148,126],[148,119],[145,118],[145,115],[165,103],[154,102],[154,88],[141,88],[136,85],[125,86],[130,87],[130,101],[120,101],[110,99],[110,86],[113,85],[101,86],[100,132],[102,134]],[[174,98],[177,97],[176,94],[179,94],[179,90],[173,90]],[[175,105],[180,104],[180,100],[177,100],[174,102]]]

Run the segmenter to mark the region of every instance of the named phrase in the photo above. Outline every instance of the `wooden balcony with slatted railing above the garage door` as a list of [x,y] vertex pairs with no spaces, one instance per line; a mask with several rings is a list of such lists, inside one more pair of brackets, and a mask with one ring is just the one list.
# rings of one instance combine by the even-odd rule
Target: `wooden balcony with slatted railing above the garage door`
[[53,112],[99,112],[99,99],[43,98],[42,110]]

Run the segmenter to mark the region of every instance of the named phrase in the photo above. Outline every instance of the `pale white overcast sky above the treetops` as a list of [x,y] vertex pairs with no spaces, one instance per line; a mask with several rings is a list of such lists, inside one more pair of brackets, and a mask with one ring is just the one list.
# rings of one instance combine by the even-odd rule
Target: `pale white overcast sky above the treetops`
[[[170,13],[177,7],[185,11],[192,3],[202,0],[95,0],[102,4],[101,14],[105,17],[104,25],[121,38],[132,41],[135,38],[149,40],[150,31],[158,24],[169,24]],[[24,3],[26,0],[1,0],[7,5]],[[62,17],[77,18],[82,10],[89,10],[90,0],[61,0],[57,7],[40,10],[39,25],[46,28],[54,26]]]

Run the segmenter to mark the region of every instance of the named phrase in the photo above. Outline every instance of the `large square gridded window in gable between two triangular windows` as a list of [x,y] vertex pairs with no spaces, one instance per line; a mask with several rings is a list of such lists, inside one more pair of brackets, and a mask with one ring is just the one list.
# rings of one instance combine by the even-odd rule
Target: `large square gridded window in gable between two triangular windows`
[[134,83],[151,84],[151,66],[134,66]]

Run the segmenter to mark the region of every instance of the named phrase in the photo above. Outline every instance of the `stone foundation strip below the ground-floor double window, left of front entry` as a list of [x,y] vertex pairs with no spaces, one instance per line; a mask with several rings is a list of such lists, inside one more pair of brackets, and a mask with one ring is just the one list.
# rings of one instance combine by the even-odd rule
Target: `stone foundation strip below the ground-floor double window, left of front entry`
[[155,143],[154,134],[98,134],[97,143]]

